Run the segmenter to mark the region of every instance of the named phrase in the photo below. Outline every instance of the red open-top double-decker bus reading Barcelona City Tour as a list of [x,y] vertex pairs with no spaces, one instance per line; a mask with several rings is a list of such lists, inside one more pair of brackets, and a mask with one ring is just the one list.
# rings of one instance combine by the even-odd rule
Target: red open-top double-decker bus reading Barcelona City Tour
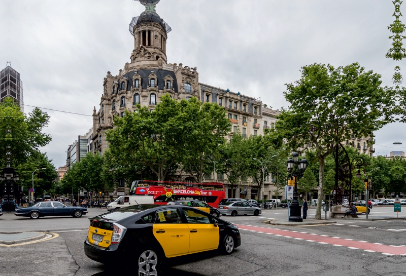
[[156,204],[178,200],[199,200],[218,208],[225,199],[224,185],[219,182],[189,183],[136,180],[132,182],[130,195],[153,195]]

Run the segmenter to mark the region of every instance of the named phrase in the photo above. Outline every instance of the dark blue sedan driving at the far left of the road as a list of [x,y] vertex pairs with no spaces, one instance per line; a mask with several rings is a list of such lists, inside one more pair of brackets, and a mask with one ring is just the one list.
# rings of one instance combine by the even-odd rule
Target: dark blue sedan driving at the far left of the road
[[38,219],[46,216],[73,216],[80,218],[87,214],[87,209],[82,207],[67,207],[57,201],[38,202],[30,207],[16,209],[15,215],[19,217],[30,217]]

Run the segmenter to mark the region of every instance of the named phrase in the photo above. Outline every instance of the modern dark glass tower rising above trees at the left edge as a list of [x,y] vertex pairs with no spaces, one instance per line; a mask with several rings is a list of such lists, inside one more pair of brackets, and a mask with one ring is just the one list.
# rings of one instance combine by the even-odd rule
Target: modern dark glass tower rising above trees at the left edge
[[7,66],[0,71],[0,102],[3,102],[6,97],[12,97],[24,112],[20,73],[11,66]]

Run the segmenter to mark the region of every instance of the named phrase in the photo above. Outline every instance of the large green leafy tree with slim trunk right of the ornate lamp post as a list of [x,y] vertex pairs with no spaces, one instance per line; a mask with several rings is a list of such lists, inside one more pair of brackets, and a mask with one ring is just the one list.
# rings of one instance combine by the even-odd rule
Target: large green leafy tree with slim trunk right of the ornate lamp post
[[[312,64],[302,67],[300,80],[288,84],[290,107],[279,115],[277,130],[292,149],[312,144],[319,163],[318,200],[322,201],[324,162],[346,139],[372,137],[393,121],[393,91],[381,87],[381,75],[365,71],[358,63],[334,68]],[[321,218],[321,205],[316,219]]]

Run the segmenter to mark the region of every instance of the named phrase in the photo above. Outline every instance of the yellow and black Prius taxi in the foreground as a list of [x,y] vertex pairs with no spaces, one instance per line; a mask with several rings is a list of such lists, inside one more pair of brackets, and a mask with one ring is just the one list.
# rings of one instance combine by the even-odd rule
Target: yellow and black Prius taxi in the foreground
[[168,258],[241,245],[237,226],[183,205],[137,205],[90,219],[84,251],[101,263],[138,262],[139,275],[156,275]]

